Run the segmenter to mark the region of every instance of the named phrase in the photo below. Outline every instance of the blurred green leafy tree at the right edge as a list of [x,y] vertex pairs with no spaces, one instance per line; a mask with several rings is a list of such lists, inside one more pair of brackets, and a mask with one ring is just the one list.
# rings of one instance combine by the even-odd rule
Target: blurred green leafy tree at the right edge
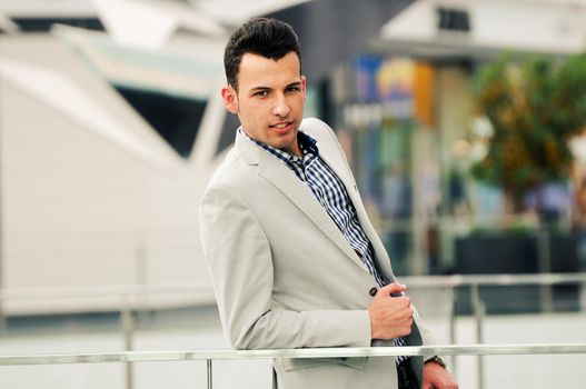
[[568,142],[586,126],[586,54],[503,56],[480,68],[475,81],[476,108],[493,136],[471,173],[501,186],[519,210],[528,190],[569,174]]

